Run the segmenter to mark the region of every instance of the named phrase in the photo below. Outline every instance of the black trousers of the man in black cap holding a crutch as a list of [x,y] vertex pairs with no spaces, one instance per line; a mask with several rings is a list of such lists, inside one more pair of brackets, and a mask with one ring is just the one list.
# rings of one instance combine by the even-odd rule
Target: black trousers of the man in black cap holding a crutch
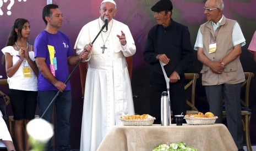
[[[166,84],[150,85],[150,115],[156,118],[154,124],[161,124],[161,94],[167,91]],[[173,115],[186,114],[186,93],[184,90],[184,80],[177,83],[170,83],[171,111]]]

